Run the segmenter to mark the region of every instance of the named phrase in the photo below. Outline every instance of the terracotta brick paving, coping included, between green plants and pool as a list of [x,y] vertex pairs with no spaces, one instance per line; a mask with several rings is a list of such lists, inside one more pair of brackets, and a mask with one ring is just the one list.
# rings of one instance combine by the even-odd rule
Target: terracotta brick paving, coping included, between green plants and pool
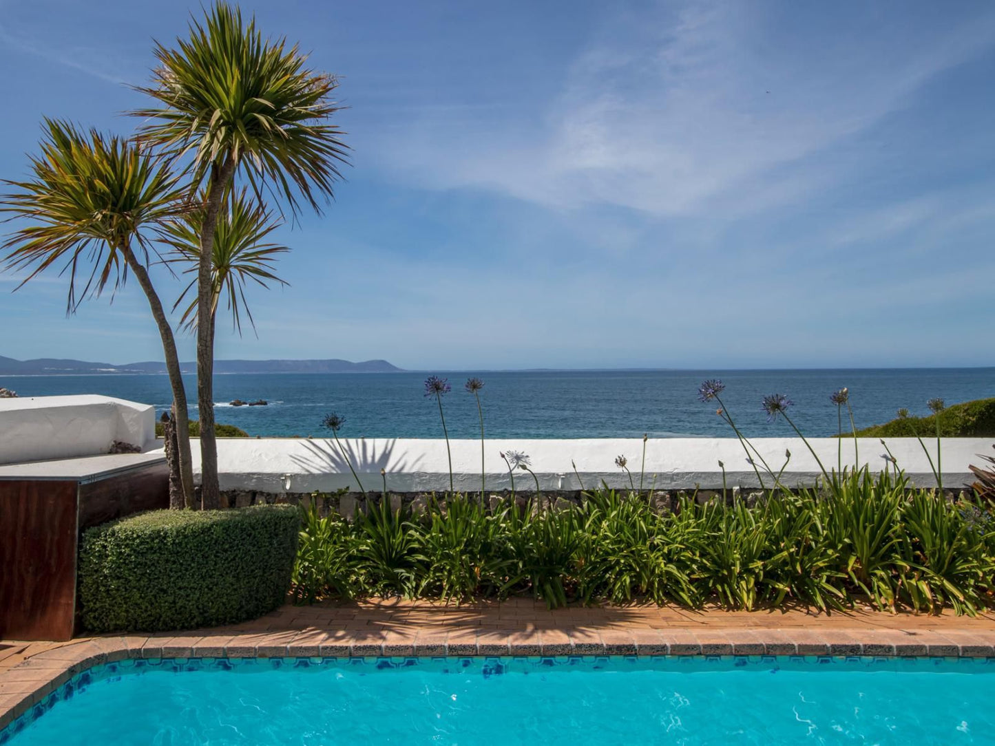
[[125,657],[324,655],[942,655],[995,657],[995,615],[571,607],[510,599],[285,606],[253,622],[68,643],[0,641],[0,728],[80,671]]

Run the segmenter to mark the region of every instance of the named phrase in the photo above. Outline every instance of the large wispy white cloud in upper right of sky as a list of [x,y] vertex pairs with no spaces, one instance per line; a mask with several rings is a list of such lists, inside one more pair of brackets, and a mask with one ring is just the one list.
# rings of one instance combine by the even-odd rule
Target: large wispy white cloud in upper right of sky
[[806,159],[881,121],[995,37],[993,12],[906,36],[863,20],[800,50],[781,49],[769,27],[783,19],[753,5],[622,15],[575,60],[540,126],[434,108],[409,138],[378,144],[391,168],[438,188],[657,216],[749,214],[840,178]]

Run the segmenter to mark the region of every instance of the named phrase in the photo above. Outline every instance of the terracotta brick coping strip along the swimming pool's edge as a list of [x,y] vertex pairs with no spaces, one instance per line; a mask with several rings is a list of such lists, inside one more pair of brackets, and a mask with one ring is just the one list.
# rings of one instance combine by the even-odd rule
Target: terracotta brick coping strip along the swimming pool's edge
[[407,637],[363,630],[263,633],[205,630],[71,641],[0,671],[0,729],[73,676],[125,658],[378,657],[515,655],[862,655],[995,657],[995,630],[575,629],[494,631],[420,629]]

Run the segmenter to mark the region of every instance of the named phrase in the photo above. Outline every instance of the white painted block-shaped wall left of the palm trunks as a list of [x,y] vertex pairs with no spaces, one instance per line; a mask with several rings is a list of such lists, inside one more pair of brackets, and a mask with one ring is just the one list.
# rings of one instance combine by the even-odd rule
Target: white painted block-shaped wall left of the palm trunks
[[156,448],[155,408],[96,395],[0,399],[0,464],[106,454],[114,441]]

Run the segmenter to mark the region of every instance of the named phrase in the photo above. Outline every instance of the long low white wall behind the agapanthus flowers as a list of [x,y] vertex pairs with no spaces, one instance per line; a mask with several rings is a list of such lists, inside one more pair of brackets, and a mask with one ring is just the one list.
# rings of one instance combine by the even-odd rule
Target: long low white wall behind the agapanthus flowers
[[[791,460],[781,477],[783,483],[794,486],[812,484],[821,473],[818,464],[800,439],[759,438],[752,441],[767,463],[777,471],[785,461],[785,450]],[[812,439],[813,446],[827,470],[837,466],[834,438]],[[446,442],[420,439],[342,439],[352,466],[367,490],[383,487],[380,469],[387,472],[387,487],[395,491],[413,492],[449,488],[449,461]],[[454,482],[457,489],[479,490],[481,487],[480,441],[451,441]],[[959,489],[973,480],[968,469],[979,464],[978,454],[992,453],[992,440],[946,439],[942,444],[943,484]],[[914,438],[888,441],[898,466],[919,486],[933,486],[932,469]],[[935,441],[925,442],[934,463]],[[881,458],[885,449],[877,439],[858,441],[861,465],[869,464],[880,471],[886,464]],[[587,488],[605,480],[612,486],[628,485],[628,476],[615,466],[615,458],[628,458],[633,478],[639,482],[643,441],[623,439],[598,440],[489,440],[485,448],[485,469],[488,489],[510,486],[507,467],[499,453],[521,451],[531,458],[532,469],[542,489],[578,489],[580,482]],[[199,449],[194,441],[194,466],[199,468]],[[717,489],[722,486],[725,464],[726,483],[731,488],[757,486],[756,475],[745,461],[742,446],[736,439],[674,438],[651,440],[646,447],[644,485],[658,489],[694,488]],[[843,466],[855,462],[853,440],[842,442]],[[577,473],[572,464],[576,464]],[[355,479],[335,446],[329,440],[298,439],[223,439],[218,441],[218,465],[222,489],[253,489],[266,492],[330,491],[338,487],[356,488]],[[286,475],[290,474],[288,485]],[[579,474],[579,480],[578,480]],[[763,471],[761,469],[761,475]],[[535,482],[527,471],[514,472],[515,487],[531,490]],[[770,483],[770,479],[767,478]]]

